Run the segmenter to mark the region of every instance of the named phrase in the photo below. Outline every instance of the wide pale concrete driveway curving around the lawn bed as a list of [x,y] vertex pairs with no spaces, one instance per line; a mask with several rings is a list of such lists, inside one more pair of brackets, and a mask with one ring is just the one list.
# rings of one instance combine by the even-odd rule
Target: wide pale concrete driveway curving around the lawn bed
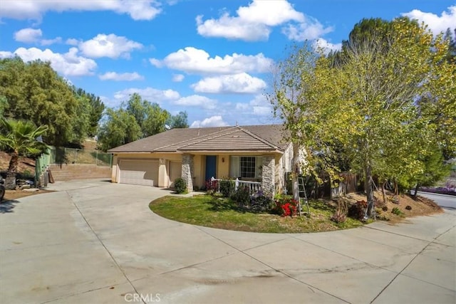
[[162,219],[162,189],[82,181],[1,206],[0,303],[456,303],[456,210],[254,234]]

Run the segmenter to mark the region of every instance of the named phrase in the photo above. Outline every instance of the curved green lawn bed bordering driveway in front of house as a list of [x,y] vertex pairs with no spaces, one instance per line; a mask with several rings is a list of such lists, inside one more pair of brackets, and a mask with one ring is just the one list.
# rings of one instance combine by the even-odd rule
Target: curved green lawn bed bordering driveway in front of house
[[311,216],[291,218],[274,214],[254,214],[240,209],[231,199],[210,195],[165,196],[150,203],[152,211],[167,219],[237,231],[302,233],[350,229],[363,225],[363,222],[350,218],[336,224],[330,220],[335,207],[323,201],[311,201],[309,206]]

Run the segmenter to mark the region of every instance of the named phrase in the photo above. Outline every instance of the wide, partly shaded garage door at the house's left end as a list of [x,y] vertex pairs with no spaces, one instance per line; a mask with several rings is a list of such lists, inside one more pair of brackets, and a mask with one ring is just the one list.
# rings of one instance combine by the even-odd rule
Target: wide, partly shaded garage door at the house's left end
[[120,159],[119,182],[158,186],[158,161]]

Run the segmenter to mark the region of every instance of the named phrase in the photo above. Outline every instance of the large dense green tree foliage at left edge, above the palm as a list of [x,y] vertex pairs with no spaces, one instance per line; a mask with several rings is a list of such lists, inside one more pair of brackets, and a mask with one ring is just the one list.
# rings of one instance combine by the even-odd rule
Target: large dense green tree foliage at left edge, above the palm
[[47,125],[44,140],[55,146],[81,143],[99,118],[50,63],[19,57],[0,59],[0,112]]

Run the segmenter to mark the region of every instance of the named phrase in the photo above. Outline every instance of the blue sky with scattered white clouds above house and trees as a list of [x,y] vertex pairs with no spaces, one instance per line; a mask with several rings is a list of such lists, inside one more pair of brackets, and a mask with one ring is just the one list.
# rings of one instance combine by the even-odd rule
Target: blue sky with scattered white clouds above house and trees
[[1,0],[0,58],[41,59],[118,107],[132,93],[192,127],[277,120],[264,93],[286,46],[340,48],[363,18],[456,27],[445,0]]

